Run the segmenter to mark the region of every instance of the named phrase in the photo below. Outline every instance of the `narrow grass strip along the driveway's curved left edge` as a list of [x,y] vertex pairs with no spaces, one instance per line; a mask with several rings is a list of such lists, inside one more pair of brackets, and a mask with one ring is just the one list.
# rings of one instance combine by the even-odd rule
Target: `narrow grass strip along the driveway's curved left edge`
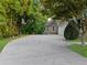
[[0,39],[0,52],[8,44],[8,42],[10,42],[11,40],[18,39],[18,37],[22,37],[22,36],[25,36],[25,35],[19,35],[19,36],[14,36],[14,37]]

